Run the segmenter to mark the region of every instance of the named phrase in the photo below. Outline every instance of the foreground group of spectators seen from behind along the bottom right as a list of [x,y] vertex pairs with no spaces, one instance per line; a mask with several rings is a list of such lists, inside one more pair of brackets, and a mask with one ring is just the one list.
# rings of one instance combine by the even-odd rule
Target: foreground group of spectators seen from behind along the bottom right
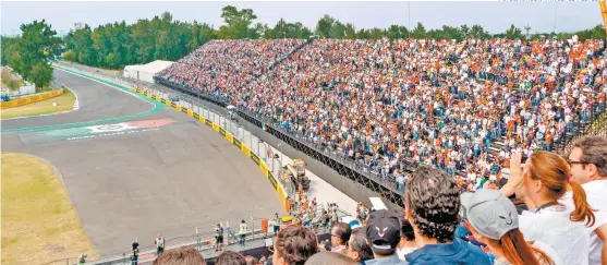
[[[515,153],[503,184],[475,192],[465,192],[445,170],[422,166],[406,182],[404,210],[371,210],[364,226],[353,229],[332,224],[330,243],[305,226],[289,225],[272,238],[270,256],[224,251],[215,264],[606,264],[606,146],[607,138],[583,137],[567,159],[541,150],[524,164]],[[512,194],[529,209],[519,212]],[[193,249],[178,249],[154,264],[206,263]]]

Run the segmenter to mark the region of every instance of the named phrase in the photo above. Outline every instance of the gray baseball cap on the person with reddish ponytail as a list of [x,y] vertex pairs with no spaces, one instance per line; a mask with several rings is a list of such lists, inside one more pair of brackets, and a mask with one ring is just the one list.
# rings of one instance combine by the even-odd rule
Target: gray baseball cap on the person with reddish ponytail
[[514,204],[501,192],[482,189],[461,196],[465,217],[484,237],[499,240],[508,231],[519,228],[519,214]]

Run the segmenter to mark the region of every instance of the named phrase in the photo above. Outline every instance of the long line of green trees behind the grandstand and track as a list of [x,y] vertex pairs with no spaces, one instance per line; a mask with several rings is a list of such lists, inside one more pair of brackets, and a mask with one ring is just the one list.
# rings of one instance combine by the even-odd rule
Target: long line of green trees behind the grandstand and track
[[[168,12],[151,20],[138,20],[130,25],[122,21],[92,28],[87,24],[77,23],[62,39],[62,57],[63,60],[90,67],[120,69],[124,65],[147,63],[154,60],[174,61],[211,39],[311,37],[378,39],[387,37],[390,39],[432,38],[460,41],[465,38],[526,38],[523,29],[514,25],[511,25],[505,33],[493,35],[481,25],[444,25],[441,28],[426,29],[422,23],[417,23],[413,28],[403,25],[391,25],[388,28],[356,28],[353,24],[340,22],[330,15],[320,17],[315,28],[307,28],[300,22],[287,22],[282,19],[270,27],[267,24],[255,23],[257,15],[252,9],[239,10],[233,5],[221,9],[221,17],[224,25],[219,28],[197,21],[190,23],[173,20]],[[581,40],[606,38],[602,25],[576,33],[535,33],[531,37],[532,39],[541,37],[568,39],[573,34],[576,34]],[[25,32],[22,36],[25,36]],[[2,44],[9,44],[7,49],[2,46],[2,64],[8,63],[11,67],[19,64],[19,60],[14,57],[11,60],[11,55],[15,53],[14,49],[17,49],[11,44],[20,41],[22,41],[20,37],[2,37]],[[8,55],[7,61],[4,55]],[[17,69],[15,69],[16,72],[22,74]]]

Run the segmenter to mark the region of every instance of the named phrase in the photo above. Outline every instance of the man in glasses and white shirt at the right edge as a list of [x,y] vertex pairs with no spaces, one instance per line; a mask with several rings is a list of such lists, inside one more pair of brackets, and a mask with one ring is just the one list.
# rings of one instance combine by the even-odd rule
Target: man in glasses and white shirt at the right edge
[[[607,138],[585,136],[575,141],[568,162],[571,176],[582,184],[586,201],[596,210],[595,224],[590,227],[590,264],[607,264]],[[559,202],[573,208],[572,198],[568,191]]]

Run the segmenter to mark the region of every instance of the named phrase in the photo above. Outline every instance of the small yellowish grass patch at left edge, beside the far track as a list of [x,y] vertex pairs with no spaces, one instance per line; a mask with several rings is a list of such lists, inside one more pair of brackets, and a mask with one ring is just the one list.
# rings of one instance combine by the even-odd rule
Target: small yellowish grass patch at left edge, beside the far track
[[[2,109],[0,117],[2,120],[11,119],[16,117],[27,117],[37,115],[50,115],[60,111],[71,110],[74,106],[76,96],[70,89],[63,91],[63,95],[49,98],[43,101],[32,103],[14,108]],[[58,103],[59,106],[52,106],[53,103]]]

